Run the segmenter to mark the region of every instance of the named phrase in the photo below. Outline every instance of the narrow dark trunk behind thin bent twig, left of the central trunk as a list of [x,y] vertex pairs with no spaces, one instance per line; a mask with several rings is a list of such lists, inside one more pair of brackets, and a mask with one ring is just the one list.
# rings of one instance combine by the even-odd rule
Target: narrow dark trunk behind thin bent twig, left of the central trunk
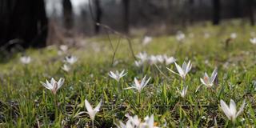
[[100,0],[94,0],[94,6],[95,6],[95,13],[96,13],[94,29],[95,29],[95,34],[98,34],[100,31],[99,24],[102,22],[102,7],[100,4]]

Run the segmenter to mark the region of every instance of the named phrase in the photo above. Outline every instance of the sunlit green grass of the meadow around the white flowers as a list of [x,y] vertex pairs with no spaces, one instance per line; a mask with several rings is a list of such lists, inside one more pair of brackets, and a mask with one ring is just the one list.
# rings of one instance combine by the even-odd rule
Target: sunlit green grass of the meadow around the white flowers
[[[160,127],[250,127],[256,125],[256,45],[250,42],[255,27],[241,25],[194,26],[183,33],[178,42],[175,35],[153,37],[142,45],[142,36],[131,38],[134,54],[166,54],[177,58],[177,64],[192,63],[185,79],[174,63],[134,65],[126,39],[110,35],[114,48],[118,46],[112,64],[113,49],[106,36],[86,39],[86,45],[71,48],[60,54],[58,46],[42,50],[26,50],[29,64],[22,64],[21,53],[0,63],[0,127],[87,127],[91,126],[85,99],[93,106],[102,100],[94,124],[97,127],[116,127],[114,122],[126,122],[125,114],[138,115],[143,121],[154,114],[154,125]],[[237,37],[230,39],[231,33]],[[66,55],[78,61],[70,71],[62,70]],[[136,58],[138,59],[138,58]],[[204,73],[218,68],[214,86],[202,85]],[[119,82],[109,72],[125,70]],[[134,78],[150,78],[141,93],[124,90],[134,84]],[[42,86],[50,78],[64,78],[63,86],[54,95]],[[182,98],[178,89],[188,86]],[[199,87],[198,87],[199,86]],[[246,102],[243,112],[234,122],[224,114],[220,100],[233,99],[237,107]],[[56,105],[57,104],[57,105]],[[56,106],[58,109],[56,109]],[[237,108],[237,110],[238,110]]]

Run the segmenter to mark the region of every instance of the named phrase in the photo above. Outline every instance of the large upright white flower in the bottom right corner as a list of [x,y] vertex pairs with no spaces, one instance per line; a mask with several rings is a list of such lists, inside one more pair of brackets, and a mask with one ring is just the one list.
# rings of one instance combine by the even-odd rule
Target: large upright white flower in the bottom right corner
[[236,104],[233,99],[230,99],[230,106],[227,106],[226,102],[221,100],[222,110],[226,114],[226,117],[229,118],[232,122],[234,122],[235,118],[237,118],[238,115],[242,113],[245,106],[246,106],[246,101],[243,101],[242,106],[237,112]]

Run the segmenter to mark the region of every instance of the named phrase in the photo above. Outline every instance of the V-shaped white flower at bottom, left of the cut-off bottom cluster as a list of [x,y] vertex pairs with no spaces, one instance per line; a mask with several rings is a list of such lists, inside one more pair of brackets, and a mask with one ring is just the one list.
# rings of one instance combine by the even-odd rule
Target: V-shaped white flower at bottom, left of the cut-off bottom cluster
[[98,103],[98,105],[93,109],[93,107],[90,105],[90,102],[85,100],[86,110],[87,114],[90,115],[90,119],[94,121],[95,115],[98,113],[99,108],[102,106],[102,100]]

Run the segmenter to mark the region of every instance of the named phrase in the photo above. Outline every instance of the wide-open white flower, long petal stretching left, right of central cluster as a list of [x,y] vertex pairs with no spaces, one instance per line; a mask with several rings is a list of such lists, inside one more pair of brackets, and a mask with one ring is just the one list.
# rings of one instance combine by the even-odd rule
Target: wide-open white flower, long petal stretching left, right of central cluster
[[176,69],[178,70],[178,73],[174,72],[173,70],[170,70],[168,67],[167,67],[167,69],[170,70],[172,73],[178,74],[180,77],[185,79],[186,78],[186,74],[192,68],[192,64],[190,63],[190,61],[187,64],[186,64],[186,62],[183,62],[182,67],[179,66],[176,62],[174,62],[174,63],[175,63]]

